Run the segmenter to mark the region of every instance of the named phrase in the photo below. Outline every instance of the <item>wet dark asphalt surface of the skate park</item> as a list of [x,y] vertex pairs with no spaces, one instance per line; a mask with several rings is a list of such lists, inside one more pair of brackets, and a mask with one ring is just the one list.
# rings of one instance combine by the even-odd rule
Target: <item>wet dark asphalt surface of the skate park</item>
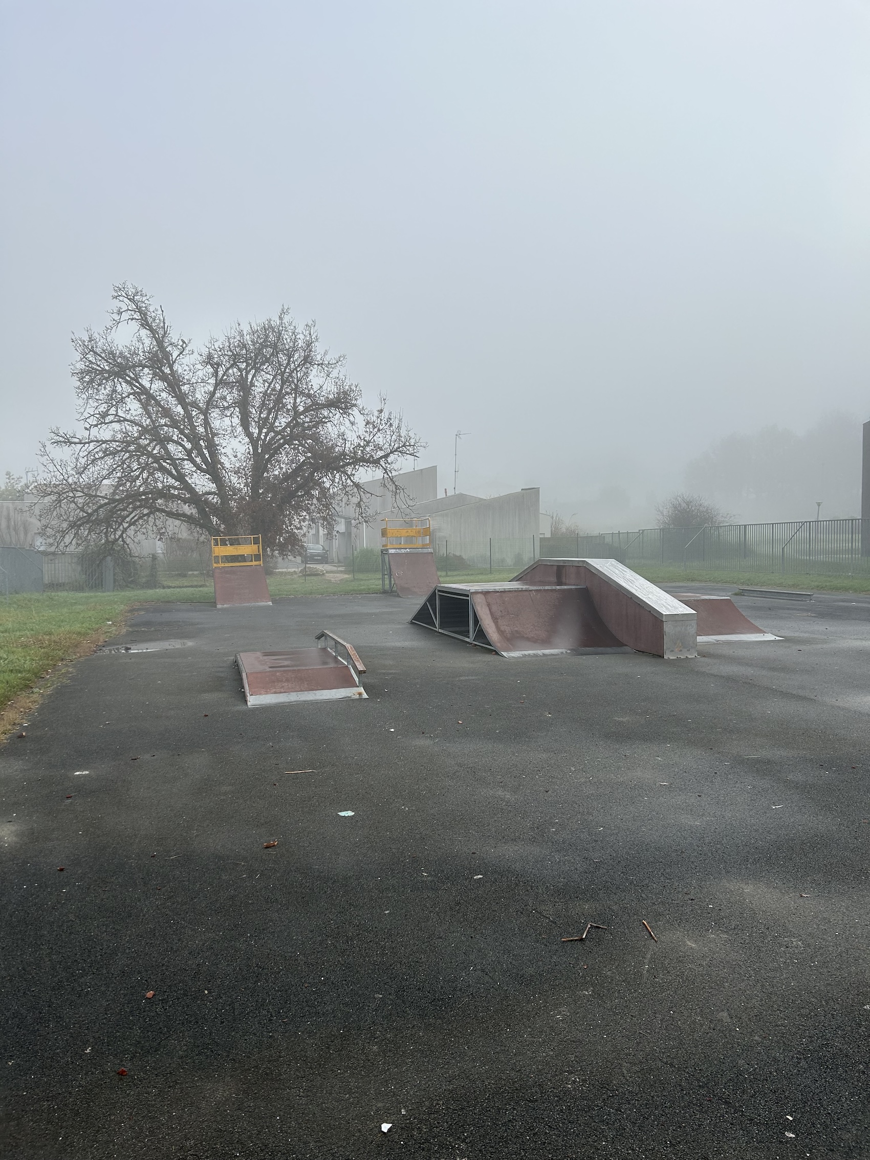
[[[0,751],[2,1155],[870,1155],[870,601],[738,603],[784,639],[137,615],[191,644],[77,662]],[[235,651],[321,628],[369,699],[246,708]]]

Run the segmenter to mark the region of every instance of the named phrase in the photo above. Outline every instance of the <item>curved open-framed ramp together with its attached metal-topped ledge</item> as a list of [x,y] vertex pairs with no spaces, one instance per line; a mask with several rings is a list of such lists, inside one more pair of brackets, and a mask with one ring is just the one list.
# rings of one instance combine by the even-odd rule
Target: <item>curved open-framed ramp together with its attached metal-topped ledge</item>
[[507,583],[436,585],[411,618],[502,657],[697,655],[697,616],[618,560],[538,560]]

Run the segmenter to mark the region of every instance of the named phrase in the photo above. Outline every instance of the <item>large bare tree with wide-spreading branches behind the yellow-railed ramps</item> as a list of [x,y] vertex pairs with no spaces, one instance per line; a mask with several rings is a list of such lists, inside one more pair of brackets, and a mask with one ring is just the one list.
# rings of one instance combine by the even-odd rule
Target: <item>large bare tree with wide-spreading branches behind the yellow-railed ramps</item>
[[[421,441],[400,414],[363,406],[345,358],[285,309],[194,349],[138,287],[114,288],[109,325],[73,339],[84,433],[43,445],[43,529],[56,543],[129,546],[137,535],[259,532],[290,552],[362,472],[394,471]],[[122,332],[128,341],[122,341]]]

